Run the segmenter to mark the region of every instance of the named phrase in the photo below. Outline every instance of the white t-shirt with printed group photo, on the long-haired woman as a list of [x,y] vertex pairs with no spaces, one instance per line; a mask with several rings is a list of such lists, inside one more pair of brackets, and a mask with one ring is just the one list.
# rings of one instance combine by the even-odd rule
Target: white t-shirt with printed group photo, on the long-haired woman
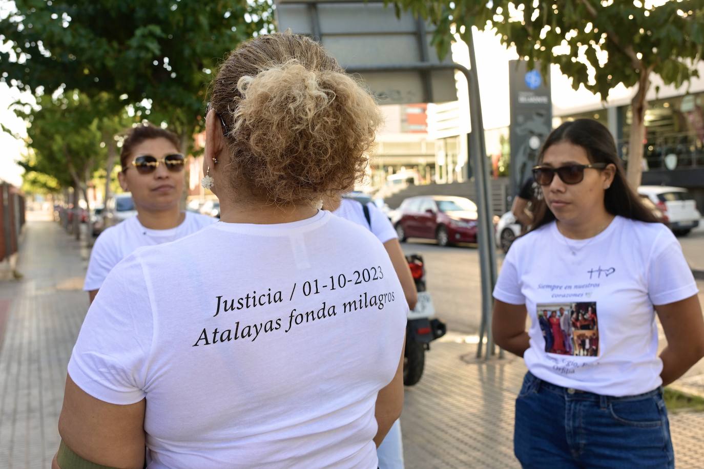
[[697,291],[666,226],[615,217],[586,240],[566,239],[554,221],[518,238],[494,297],[526,305],[532,325],[524,359],[531,373],[620,397],[662,384],[653,305]]

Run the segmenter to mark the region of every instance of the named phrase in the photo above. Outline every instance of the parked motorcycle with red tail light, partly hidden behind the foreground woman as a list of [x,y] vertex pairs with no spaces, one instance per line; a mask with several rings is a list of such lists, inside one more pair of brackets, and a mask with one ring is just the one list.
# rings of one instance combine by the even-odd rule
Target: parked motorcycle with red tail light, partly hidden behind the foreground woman
[[430,349],[430,342],[445,335],[447,328],[439,319],[431,319],[435,315],[435,307],[425,288],[423,257],[418,254],[407,255],[406,262],[418,291],[418,302],[414,309],[408,311],[406,352],[403,355],[403,384],[412,386],[423,375],[425,351]]

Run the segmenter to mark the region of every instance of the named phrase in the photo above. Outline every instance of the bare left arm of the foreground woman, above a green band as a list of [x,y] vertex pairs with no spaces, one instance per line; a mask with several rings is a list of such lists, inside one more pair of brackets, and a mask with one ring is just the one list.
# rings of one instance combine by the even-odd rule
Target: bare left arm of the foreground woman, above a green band
[[[136,404],[108,404],[92,397],[66,378],[58,432],[75,454],[92,463],[115,468],[144,467],[144,409]],[[58,467],[56,459],[52,468]]]

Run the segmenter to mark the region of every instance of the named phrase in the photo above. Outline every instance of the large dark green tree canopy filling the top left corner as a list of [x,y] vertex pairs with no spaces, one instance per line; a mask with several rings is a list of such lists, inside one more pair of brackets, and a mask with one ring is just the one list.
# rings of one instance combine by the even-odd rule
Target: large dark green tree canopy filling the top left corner
[[225,56],[272,30],[269,0],[15,0],[0,20],[2,78],[46,92],[103,92],[166,122],[184,153],[201,130],[206,84]]

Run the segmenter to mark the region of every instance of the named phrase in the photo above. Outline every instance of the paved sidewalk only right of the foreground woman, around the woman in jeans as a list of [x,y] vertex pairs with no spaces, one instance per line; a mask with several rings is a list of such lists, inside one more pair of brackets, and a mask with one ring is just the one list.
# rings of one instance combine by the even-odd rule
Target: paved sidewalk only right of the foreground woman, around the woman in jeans
[[[433,342],[420,383],[406,387],[406,469],[520,468],[513,410],[526,368],[510,354],[477,361],[466,340],[448,333]],[[704,467],[704,412],[670,413],[670,430],[677,468]]]

